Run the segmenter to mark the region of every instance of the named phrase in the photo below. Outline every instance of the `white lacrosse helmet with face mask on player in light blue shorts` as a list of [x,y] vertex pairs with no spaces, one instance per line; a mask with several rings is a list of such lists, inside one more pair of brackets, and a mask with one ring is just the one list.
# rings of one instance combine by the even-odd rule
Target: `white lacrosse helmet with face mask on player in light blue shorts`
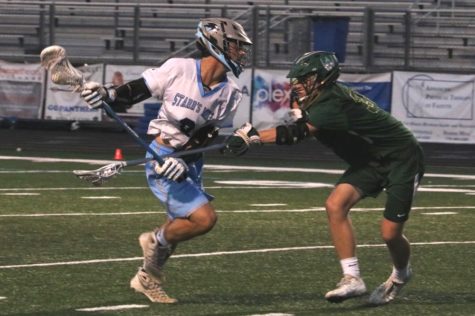
[[[252,41],[241,24],[226,18],[201,19],[196,31],[196,39],[212,56],[239,77],[252,46]],[[238,58],[232,59],[229,54],[230,42],[236,43],[238,50],[246,53],[240,53]]]

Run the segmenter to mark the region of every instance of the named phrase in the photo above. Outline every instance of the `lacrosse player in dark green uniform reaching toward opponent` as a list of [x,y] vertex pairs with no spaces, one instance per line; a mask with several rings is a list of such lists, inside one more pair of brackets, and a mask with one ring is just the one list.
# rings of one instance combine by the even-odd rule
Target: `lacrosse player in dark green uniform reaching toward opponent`
[[316,137],[348,163],[347,170],[326,200],[330,233],[340,259],[343,278],[325,298],[334,303],[362,296],[350,209],[383,190],[387,199],[381,222],[393,269],[369,297],[386,304],[411,278],[410,244],[403,234],[415,191],[424,173],[422,148],[413,134],[373,101],[336,82],[340,67],[334,53],[308,52],[295,60],[288,78],[298,108],[289,112],[290,124],[257,131],[243,125],[227,139],[226,151],[241,155],[257,143],[292,145]]

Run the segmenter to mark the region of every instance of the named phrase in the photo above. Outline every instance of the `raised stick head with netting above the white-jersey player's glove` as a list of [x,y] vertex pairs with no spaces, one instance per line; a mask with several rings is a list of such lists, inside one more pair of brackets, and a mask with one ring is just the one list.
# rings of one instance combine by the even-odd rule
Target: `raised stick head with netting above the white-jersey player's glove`
[[82,90],[84,75],[71,65],[63,47],[46,47],[41,51],[40,59],[41,65],[50,72],[51,81],[59,85],[70,85],[74,91]]

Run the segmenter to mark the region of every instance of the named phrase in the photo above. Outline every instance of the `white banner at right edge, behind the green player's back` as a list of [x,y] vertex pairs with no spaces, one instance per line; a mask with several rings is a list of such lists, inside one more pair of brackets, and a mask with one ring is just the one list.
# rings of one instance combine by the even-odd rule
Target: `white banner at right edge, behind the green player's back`
[[393,73],[392,114],[421,142],[475,144],[475,76]]

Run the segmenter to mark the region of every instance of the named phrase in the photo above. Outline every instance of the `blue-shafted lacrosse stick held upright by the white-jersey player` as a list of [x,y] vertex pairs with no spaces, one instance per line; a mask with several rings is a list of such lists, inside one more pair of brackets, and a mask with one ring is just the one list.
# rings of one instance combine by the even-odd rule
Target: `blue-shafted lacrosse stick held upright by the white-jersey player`
[[[73,87],[74,92],[81,92],[83,90],[85,83],[84,75],[71,65],[66,50],[63,47],[58,45],[46,47],[41,51],[40,59],[41,65],[50,72],[51,81],[59,85],[70,85]],[[106,113],[119,123],[140,146],[145,148],[160,165],[163,164],[162,157],[150,148],[147,143],[112,110],[109,104],[102,101],[102,107]]]

